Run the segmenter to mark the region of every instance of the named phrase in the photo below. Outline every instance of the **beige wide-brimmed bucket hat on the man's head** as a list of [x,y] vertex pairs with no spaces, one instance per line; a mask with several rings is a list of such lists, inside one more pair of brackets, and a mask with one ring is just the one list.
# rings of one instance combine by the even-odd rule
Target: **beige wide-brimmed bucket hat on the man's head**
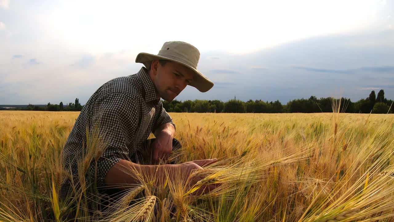
[[214,83],[210,79],[197,70],[200,52],[189,43],[183,41],[167,41],[157,55],[139,53],[136,57],[136,62],[144,64],[149,69],[152,61],[158,59],[177,62],[193,70],[195,75],[190,85],[197,88],[200,92],[206,92],[214,86]]

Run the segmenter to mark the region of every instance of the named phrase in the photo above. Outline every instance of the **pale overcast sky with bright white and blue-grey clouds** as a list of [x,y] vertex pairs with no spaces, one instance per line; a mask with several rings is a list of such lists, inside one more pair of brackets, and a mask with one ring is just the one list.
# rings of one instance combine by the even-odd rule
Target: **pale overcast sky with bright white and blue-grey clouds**
[[215,83],[178,100],[394,99],[394,0],[189,2],[0,0],[0,104],[84,104],[175,40]]

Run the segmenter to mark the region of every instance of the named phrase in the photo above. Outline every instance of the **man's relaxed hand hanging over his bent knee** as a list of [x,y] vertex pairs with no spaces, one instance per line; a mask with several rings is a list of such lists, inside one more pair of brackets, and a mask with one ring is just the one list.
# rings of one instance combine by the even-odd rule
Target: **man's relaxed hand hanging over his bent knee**
[[151,145],[152,148],[152,163],[158,163],[160,160],[167,160],[172,152],[173,136],[165,131],[162,131]]

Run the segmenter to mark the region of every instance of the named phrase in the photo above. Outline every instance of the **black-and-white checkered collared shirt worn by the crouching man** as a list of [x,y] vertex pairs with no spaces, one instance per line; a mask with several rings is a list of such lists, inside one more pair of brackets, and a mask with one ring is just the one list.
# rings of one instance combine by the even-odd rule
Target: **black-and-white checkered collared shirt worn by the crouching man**
[[[93,158],[85,178],[87,188],[95,178],[97,187],[103,187],[108,170],[122,159],[133,160],[133,154],[142,151],[151,132],[164,123],[173,124],[145,67],[134,75],[112,79],[89,98],[78,116],[63,150],[63,167],[71,169],[74,183],[79,184],[78,159],[88,153],[87,132],[97,131],[107,148],[97,161],[97,175]],[[66,180],[61,187],[62,196],[69,191],[70,181]]]

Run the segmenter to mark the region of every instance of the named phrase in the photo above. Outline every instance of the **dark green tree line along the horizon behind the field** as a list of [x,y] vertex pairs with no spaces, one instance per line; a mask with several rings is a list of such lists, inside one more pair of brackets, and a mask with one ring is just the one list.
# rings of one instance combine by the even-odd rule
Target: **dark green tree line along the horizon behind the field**
[[[248,100],[243,102],[236,98],[227,102],[221,100],[173,100],[167,102],[162,100],[164,109],[169,113],[330,113],[333,111],[332,104],[338,103],[339,99],[331,97],[316,98],[310,96],[309,99],[291,100],[287,104],[282,104],[279,100],[273,102],[263,100]],[[385,98],[384,90],[380,90],[377,95],[372,90],[370,95],[357,102],[352,102],[348,98],[341,98],[341,112],[344,113],[392,113],[391,105],[393,100]],[[23,108],[13,108],[7,110],[30,110],[30,111],[81,111],[84,106],[79,103],[78,98],[74,103],[63,105],[48,103],[46,106],[35,106],[29,104]],[[390,108],[391,107],[391,108]]]

